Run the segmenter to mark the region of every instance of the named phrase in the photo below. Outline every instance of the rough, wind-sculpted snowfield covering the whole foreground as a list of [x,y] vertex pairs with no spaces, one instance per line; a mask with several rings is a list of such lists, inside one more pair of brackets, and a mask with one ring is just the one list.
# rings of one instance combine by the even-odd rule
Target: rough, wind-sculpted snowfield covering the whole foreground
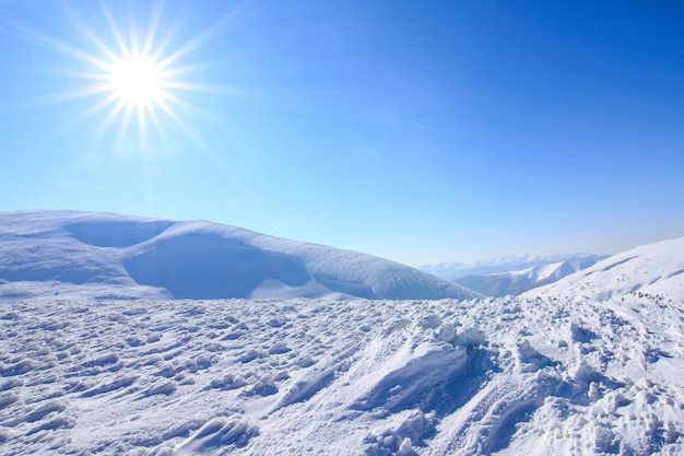
[[682,305],[5,301],[0,448],[681,455]]

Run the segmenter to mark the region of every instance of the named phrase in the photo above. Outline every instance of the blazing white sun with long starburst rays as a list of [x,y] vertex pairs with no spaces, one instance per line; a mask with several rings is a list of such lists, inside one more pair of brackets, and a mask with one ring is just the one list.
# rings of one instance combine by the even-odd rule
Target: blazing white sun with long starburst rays
[[[223,81],[219,85],[207,83],[212,79],[212,63],[198,61],[196,52],[257,11],[260,2],[244,0],[201,27],[165,8],[163,0],[101,0],[68,7],[64,11],[73,30],[68,40],[1,16],[0,30],[9,28],[71,59],[63,65],[68,70],[60,69],[61,75],[70,80],[69,89],[54,93],[49,101],[87,98],[93,103],[76,118],[69,119],[69,124],[81,126],[94,121],[95,128],[89,129],[93,139],[111,138],[107,131],[118,125],[118,139],[127,143],[137,141],[141,149],[151,142],[151,132],[164,140],[176,130],[202,145],[187,117],[207,117],[197,103],[208,93],[225,94],[226,90]],[[204,50],[198,54],[207,58]]]

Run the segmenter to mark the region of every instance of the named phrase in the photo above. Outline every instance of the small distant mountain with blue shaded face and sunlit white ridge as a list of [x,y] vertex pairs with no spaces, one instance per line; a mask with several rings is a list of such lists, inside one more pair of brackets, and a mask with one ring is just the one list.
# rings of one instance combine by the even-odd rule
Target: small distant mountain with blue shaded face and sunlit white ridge
[[527,268],[521,271],[459,277],[453,279],[453,282],[486,296],[517,295],[587,269],[595,265],[597,261],[595,256],[579,256],[565,261]]

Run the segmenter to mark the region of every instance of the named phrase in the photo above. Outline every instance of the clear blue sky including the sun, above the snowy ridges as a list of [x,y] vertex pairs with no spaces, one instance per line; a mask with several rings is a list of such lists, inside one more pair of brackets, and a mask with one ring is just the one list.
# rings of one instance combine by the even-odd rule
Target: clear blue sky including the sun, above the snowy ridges
[[684,2],[0,0],[0,210],[408,265],[684,235]]

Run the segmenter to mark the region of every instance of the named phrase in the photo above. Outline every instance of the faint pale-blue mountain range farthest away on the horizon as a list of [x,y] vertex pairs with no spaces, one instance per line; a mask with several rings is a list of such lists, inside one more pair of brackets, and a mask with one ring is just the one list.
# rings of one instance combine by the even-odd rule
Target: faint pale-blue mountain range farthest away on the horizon
[[418,269],[446,280],[453,280],[465,276],[488,276],[494,273],[517,272],[558,262],[589,262],[606,258],[605,255],[569,254],[569,255],[512,255],[485,259],[471,264],[439,262],[423,265]]

